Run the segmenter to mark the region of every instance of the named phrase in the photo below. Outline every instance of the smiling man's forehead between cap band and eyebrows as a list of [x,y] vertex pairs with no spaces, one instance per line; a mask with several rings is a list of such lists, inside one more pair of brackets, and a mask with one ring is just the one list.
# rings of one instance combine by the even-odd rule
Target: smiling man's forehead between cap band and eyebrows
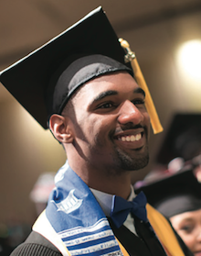
[[[75,95],[75,98],[86,98],[92,100],[97,95],[100,95],[106,91],[115,91],[116,94],[134,94],[139,85],[135,82],[132,75],[128,72],[115,72],[111,74],[101,75],[88,83],[81,86]],[[136,93],[142,93],[142,91],[136,91]]]

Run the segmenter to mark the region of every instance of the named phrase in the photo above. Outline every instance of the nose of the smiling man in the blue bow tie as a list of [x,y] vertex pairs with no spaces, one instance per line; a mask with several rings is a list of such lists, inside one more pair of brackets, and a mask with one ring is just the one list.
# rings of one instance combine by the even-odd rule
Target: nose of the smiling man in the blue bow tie
[[131,122],[134,125],[137,125],[143,121],[143,113],[131,101],[126,100],[120,109],[118,121],[122,125],[131,123]]

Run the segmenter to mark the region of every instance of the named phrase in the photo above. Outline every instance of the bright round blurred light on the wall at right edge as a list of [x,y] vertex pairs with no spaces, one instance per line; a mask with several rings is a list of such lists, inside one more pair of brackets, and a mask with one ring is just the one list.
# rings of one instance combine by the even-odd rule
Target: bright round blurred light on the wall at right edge
[[178,50],[178,64],[189,78],[201,81],[201,40],[185,42]]

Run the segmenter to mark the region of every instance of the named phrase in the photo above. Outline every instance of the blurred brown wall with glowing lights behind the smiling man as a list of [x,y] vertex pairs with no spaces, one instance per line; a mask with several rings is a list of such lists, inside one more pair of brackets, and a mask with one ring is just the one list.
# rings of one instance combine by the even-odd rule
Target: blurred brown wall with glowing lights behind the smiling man
[[[134,183],[159,165],[157,155],[175,113],[201,113],[201,63],[188,60],[188,52],[187,71],[178,61],[179,50],[192,40],[196,59],[201,60],[200,0],[0,1],[0,70],[98,6],[106,11],[117,35],[128,40],[136,52],[164,127],[161,134],[151,133],[151,161],[133,173]],[[39,175],[57,172],[66,159],[50,132],[41,128],[2,84],[0,145],[0,254],[8,255],[5,248],[10,250],[25,239],[37,217],[30,193]]]

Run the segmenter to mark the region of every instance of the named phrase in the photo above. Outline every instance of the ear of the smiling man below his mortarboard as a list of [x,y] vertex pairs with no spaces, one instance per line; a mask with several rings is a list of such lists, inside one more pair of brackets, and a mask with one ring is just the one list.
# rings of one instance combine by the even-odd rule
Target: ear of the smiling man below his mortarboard
[[73,134],[70,128],[69,117],[63,117],[57,114],[53,114],[49,118],[49,128],[54,137],[61,143],[72,143]]

